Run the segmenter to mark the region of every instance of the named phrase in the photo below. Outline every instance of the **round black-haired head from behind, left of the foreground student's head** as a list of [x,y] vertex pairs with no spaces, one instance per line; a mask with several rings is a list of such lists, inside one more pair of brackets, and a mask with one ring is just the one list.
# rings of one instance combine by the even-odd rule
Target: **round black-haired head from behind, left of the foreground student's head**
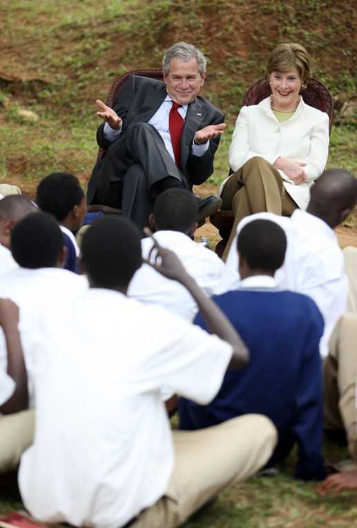
[[30,213],[11,232],[12,256],[21,267],[35,270],[55,267],[64,247],[64,236],[55,219],[47,213]]

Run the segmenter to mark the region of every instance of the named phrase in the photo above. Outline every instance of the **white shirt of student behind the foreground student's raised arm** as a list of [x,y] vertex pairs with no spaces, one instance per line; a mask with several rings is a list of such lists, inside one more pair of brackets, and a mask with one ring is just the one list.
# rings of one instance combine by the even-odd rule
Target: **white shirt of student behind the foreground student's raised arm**
[[[175,252],[186,271],[208,296],[221,293],[226,266],[213,251],[177,231],[158,231],[154,236],[162,247]],[[143,238],[143,258],[148,258],[152,247],[151,238]],[[142,303],[164,306],[186,321],[193,321],[197,312],[197,305],[186,288],[157,273],[148,264],[143,264],[133,276],[128,296]]]

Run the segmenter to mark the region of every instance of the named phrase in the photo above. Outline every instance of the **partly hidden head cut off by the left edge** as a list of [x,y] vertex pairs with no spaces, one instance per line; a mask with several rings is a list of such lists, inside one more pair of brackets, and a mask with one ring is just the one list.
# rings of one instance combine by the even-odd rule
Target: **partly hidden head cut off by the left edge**
[[10,235],[17,222],[37,210],[35,204],[23,194],[11,194],[0,200],[0,244],[10,250]]

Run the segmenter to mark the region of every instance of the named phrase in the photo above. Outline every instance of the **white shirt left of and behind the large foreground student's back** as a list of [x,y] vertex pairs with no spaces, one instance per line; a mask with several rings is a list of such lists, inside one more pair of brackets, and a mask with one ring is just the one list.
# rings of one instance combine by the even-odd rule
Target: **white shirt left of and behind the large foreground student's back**
[[[32,355],[28,342],[39,321],[53,310],[68,309],[77,296],[88,290],[88,280],[58,267],[29,270],[17,267],[0,276],[0,297],[10,298],[19,306],[19,330],[28,374],[29,406],[33,407]],[[0,328],[0,371],[8,367],[6,343]],[[11,395],[10,395],[11,396]],[[10,397],[9,396],[9,397]]]

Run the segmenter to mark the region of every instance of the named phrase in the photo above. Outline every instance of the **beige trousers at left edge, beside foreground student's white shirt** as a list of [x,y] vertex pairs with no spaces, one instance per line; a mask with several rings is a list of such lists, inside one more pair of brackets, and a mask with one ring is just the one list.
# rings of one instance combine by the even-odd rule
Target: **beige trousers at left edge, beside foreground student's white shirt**
[[33,442],[34,429],[34,409],[0,416],[0,473],[19,465],[23,451]]

